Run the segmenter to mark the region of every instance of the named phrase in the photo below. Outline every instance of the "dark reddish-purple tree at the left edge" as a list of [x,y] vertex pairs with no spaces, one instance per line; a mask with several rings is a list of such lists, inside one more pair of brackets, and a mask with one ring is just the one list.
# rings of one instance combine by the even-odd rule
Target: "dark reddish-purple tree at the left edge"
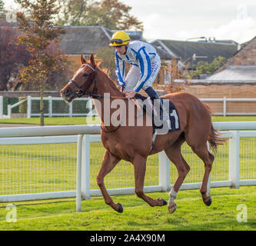
[[[4,23],[3,23],[4,24]],[[0,90],[8,90],[10,78],[15,80],[18,69],[28,65],[31,56],[24,45],[16,45],[15,38],[18,32],[12,26],[0,27]]]

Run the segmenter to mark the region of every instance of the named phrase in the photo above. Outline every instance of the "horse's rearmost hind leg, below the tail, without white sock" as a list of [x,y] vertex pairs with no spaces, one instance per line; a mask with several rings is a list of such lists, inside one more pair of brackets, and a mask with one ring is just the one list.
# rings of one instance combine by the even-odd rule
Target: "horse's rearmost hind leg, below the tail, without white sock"
[[212,155],[208,151],[207,143],[205,142],[203,145],[197,146],[197,147],[191,147],[192,150],[196,155],[198,155],[199,158],[201,158],[202,161],[204,161],[204,178],[201,184],[200,192],[201,196],[203,198],[204,204],[207,206],[211,205],[211,196],[207,194],[207,184],[208,184],[208,178],[211,173],[211,167],[214,161],[214,155]]

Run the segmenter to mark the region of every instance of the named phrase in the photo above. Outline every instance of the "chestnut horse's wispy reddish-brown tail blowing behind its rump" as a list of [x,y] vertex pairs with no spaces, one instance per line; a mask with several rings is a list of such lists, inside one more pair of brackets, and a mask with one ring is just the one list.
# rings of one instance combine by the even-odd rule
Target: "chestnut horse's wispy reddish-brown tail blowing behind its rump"
[[[209,105],[204,104],[204,106],[208,109],[209,113],[213,115],[213,110]],[[217,152],[218,145],[224,145],[224,143],[228,141],[228,138],[221,138],[221,133],[214,129],[214,126],[211,123],[210,134],[208,135],[208,143],[210,144],[210,149]]]

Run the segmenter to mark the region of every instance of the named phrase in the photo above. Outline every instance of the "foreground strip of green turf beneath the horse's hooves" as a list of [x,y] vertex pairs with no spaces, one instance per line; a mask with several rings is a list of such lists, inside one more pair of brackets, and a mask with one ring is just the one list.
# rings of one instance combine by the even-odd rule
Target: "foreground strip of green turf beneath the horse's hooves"
[[[167,192],[148,194],[168,199]],[[151,208],[135,194],[113,196],[124,207],[118,214],[102,198],[82,201],[75,212],[75,199],[17,202],[17,222],[7,222],[7,204],[0,205],[1,230],[83,231],[255,231],[256,188],[212,188],[212,204],[204,205],[198,190],[179,191],[177,211],[167,206]],[[241,205],[243,204],[243,205]],[[238,210],[243,206],[244,210]],[[247,210],[247,211],[246,211]],[[243,212],[243,214],[239,214]],[[239,222],[241,221],[241,222]]]

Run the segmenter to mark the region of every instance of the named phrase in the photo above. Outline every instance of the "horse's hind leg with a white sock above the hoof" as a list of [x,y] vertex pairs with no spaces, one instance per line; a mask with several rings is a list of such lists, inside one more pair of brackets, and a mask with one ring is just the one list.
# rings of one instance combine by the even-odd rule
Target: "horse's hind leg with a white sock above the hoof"
[[175,198],[177,196],[178,190],[181,188],[181,184],[188,175],[190,167],[181,155],[181,142],[179,142],[178,145],[173,145],[170,148],[166,148],[165,153],[178,170],[178,178],[176,179],[175,184],[169,193],[168,211],[170,214],[172,214],[177,209]]

